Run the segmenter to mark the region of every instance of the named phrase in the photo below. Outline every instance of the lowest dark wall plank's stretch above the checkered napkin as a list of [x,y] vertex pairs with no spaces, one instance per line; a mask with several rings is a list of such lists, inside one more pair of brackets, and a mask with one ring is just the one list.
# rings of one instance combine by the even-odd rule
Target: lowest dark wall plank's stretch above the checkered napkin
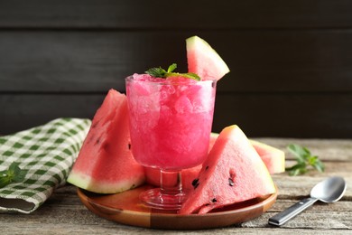
[[54,118],[93,118],[106,94],[0,95],[0,133],[43,125]]

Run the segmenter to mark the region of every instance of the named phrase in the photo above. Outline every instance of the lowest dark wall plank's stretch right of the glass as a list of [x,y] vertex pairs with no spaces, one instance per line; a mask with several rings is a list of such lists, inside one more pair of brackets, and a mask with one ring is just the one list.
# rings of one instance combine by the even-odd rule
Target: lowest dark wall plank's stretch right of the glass
[[247,136],[351,138],[352,94],[218,93],[213,129],[236,124]]

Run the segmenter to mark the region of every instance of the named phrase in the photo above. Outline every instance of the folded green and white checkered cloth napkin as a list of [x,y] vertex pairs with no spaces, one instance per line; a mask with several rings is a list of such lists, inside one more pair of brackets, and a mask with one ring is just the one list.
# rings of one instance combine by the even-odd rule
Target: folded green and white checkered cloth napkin
[[65,184],[90,124],[89,119],[58,118],[0,136],[0,172],[14,162],[27,171],[22,182],[0,188],[0,211],[35,211],[55,188]]

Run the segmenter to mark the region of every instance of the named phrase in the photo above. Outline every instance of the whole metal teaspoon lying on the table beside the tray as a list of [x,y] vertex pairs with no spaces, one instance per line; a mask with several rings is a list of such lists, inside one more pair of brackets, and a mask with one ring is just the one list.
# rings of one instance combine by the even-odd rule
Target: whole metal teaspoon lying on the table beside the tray
[[347,184],[342,177],[329,177],[320,183],[317,183],[310,191],[310,198],[306,198],[293,204],[286,210],[274,215],[269,219],[269,224],[280,226],[286,221],[291,220],[294,216],[304,211],[314,202],[337,202],[345,193]]

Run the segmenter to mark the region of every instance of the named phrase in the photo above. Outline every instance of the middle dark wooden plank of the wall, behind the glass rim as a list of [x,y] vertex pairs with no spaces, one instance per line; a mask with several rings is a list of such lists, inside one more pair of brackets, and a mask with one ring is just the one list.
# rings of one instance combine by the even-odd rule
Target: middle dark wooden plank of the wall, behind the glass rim
[[198,34],[227,61],[220,91],[352,90],[352,31],[0,32],[0,91],[105,92],[134,72],[179,64]]

